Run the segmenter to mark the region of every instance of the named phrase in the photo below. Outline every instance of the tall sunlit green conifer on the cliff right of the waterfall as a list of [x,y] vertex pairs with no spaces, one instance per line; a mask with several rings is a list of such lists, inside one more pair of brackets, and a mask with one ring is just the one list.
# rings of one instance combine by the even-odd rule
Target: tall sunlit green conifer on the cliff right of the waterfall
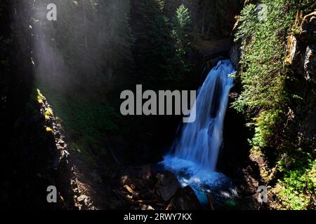
[[[242,11],[235,41],[242,41],[240,62],[243,91],[233,106],[238,111],[255,114],[253,118],[256,148],[268,146],[275,132],[274,125],[282,117],[287,102],[284,92],[285,41],[291,29],[295,5],[291,1],[263,1],[268,13],[258,17],[256,6],[247,5]],[[284,10],[291,8],[285,15]]]

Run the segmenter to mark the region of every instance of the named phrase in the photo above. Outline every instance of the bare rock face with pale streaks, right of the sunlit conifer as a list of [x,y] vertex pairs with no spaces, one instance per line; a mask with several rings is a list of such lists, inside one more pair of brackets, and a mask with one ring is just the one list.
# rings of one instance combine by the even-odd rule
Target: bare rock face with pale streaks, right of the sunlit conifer
[[[296,82],[290,87],[303,98],[296,105],[299,132],[304,139],[315,141],[316,122],[316,12],[297,15],[297,30],[289,37],[287,63],[293,69]],[[294,25],[295,26],[295,25]]]

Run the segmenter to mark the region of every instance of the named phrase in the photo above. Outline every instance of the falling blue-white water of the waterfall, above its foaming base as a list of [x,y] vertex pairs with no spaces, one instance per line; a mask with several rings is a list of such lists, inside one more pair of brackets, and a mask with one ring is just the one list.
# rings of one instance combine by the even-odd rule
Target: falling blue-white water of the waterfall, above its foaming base
[[199,88],[195,123],[184,124],[180,137],[172,147],[174,156],[195,162],[202,169],[214,172],[218,151],[223,142],[223,123],[228,106],[228,93],[234,73],[230,60],[218,62]]

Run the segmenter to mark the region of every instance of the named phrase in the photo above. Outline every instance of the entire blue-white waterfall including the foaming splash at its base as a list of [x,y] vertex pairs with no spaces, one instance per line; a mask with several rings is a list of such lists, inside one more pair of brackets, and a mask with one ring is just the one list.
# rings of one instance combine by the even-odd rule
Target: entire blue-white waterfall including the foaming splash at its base
[[198,196],[204,186],[214,187],[229,182],[223,174],[215,171],[223,144],[228,94],[233,85],[231,73],[235,73],[235,69],[230,60],[218,62],[209,72],[199,88],[193,108],[197,115],[195,123],[183,124],[171,154],[166,155],[162,162],[164,167],[178,175],[183,185],[192,186]]

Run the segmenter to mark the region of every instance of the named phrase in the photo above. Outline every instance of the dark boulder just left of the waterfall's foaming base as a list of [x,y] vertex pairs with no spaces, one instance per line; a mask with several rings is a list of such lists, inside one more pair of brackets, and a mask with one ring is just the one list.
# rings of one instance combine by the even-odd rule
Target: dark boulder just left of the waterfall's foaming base
[[176,175],[171,172],[162,172],[157,174],[156,177],[158,179],[155,186],[156,193],[162,197],[162,200],[167,202],[181,188],[180,183]]

